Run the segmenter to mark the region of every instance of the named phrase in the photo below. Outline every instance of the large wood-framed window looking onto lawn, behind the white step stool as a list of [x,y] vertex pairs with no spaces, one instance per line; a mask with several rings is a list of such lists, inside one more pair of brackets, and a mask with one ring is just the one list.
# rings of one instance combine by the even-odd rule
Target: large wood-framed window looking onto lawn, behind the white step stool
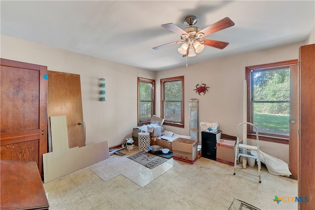
[[[297,60],[246,67],[248,122],[259,140],[288,143],[290,113],[290,66]],[[248,138],[255,138],[252,126]]]

